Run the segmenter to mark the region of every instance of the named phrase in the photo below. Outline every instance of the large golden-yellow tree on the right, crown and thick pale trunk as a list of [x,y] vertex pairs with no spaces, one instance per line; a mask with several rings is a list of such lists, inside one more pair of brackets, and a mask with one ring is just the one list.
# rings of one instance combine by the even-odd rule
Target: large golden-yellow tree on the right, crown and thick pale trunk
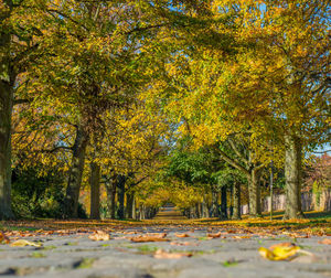
[[285,217],[300,217],[302,148],[328,140],[330,129],[328,1],[215,1],[214,7],[220,17],[234,14],[233,29],[215,25],[232,33],[233,55],[203,45],[193,55],[173,55],[171,83],[158,88],[168,93],[166,109],[182,129],[189,125],[197,146],[246,136],[258,163],[270,162],[270,149],[284,150]]

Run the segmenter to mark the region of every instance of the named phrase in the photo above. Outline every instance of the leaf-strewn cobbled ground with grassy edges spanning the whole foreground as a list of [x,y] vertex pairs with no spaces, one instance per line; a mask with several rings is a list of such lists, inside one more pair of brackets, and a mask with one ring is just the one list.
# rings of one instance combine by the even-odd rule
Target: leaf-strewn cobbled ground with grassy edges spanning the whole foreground
[[331,216],[1,222],[0,275],[331,277]]

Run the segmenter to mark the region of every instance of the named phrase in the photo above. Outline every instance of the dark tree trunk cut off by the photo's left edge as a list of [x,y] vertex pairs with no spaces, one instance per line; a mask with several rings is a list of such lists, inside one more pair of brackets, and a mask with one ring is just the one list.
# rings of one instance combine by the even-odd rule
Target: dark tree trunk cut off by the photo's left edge
[[11,115],[15,74],[10,63],[10,34],[0,33],[0,220],[13,218],[11,211]]

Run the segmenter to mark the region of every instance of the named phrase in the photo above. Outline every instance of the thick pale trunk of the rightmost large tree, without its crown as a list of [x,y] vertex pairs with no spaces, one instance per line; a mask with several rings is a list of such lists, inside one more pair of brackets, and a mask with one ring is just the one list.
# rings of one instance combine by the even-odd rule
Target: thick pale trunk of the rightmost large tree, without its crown
[[284,218],[302,218],[302,143],[299,137],[288,135],[285,137],[285,147],[286,210]]

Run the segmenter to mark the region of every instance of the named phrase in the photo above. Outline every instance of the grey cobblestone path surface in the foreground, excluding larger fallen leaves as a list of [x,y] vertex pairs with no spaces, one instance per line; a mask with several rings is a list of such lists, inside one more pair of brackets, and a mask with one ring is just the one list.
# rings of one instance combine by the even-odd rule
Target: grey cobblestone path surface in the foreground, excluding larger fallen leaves
[[[158,217],[164,218],[162,210]],[[166,213],[167,214],[167,213]],[[180,216],[180,215],[177,215]],[[167,218],[167,215],[166,215]],[[88,238],[90,229],[35,233],[24,239],[41,243],[41,247],[0,246],[0,277],[61,277],[61,278],[319,278],[331,277],[331,245],[321,242],[330,236],[290,238],[286,234],[249,234],[221,227],[169,225],[131,226],[120,229],[104,227],[110,240]],[[221,232],[217,238],[207,234]],[[167,242],[135,243],[132,237],[166,233]],[[246,233],[246,234],[245,234]],[[186,234],[186,237],[178,237]],[[18,235],[17,238],[21,238]],[[15,238],[11,238],[13,242]],[[270,261],[258,248],[295,242],[311,255],[291,261]],[[162,252],[160,252],[160,249]],[[190,257],[156,258],[162,254],[190,254]],[[171,256],[171,255],[170,255]],[[162,257],[162,256],[161,256]]]

